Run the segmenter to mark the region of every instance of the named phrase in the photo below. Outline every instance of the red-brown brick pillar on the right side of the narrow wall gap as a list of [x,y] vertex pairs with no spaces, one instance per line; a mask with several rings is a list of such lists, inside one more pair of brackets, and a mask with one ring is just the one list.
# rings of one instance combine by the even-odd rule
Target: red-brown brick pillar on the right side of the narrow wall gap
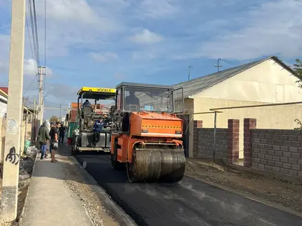
[[256,118],[244,118],[244,142],[243,142],[243,155],[244,166],[251,167],[252,160],[252,133],[251,129],[257,126]]

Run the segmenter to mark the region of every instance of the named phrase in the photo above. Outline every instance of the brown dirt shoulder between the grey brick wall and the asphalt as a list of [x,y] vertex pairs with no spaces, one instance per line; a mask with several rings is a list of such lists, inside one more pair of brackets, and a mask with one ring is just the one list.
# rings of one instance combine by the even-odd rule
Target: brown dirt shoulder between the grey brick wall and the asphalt
[[259,201],[276,203],[302,214],[302,184],[236,171],[227,166],[199,159],[187,160],[185,174],[243,194],[250,194]]

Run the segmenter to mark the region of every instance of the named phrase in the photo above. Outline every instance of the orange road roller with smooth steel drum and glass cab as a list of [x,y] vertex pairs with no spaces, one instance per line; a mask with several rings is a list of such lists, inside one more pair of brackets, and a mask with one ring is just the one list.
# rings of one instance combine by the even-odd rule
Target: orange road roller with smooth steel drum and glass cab
[[113,168],[130,182],[180,181],[185,172],[183,88],[123,82],[116,88],[111,136]]

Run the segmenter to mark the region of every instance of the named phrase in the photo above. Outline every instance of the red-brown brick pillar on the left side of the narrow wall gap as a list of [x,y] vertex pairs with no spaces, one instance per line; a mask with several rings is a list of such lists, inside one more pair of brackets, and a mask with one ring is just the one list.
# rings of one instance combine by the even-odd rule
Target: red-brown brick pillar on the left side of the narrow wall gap
[[239,119],[228,120],[227,159],[234,163],[239,158]]

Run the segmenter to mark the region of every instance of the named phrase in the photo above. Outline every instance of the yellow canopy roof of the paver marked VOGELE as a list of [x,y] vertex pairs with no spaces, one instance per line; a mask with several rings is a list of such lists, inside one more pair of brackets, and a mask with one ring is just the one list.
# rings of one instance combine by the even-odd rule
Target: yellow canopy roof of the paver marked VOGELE
[[[115,97],[114,88],[82,87],[78,91],[78,96],[84,99],[110,99]],[[82,96],[83,95],[83,96]]]

